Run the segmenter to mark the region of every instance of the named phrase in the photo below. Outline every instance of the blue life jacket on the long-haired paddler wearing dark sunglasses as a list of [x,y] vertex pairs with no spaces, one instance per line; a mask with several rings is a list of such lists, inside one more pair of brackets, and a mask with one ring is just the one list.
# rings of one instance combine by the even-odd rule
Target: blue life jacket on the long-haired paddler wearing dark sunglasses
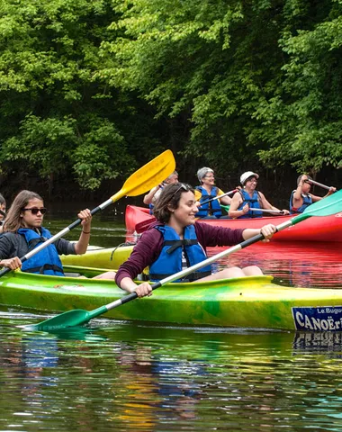
[[[29,252],[34,247],[40,245],[48,238],[51,238],[51,233],[43,227],[41,235],[33,229],[21,228],[18,233],[22,234],[27,241]],[[36,273],[40,275],[57,275],[64,276],[63,266],[60,261],[57,248],[54,244],[44,247],[38,254],[23,262],[22,271],[27,273]]]

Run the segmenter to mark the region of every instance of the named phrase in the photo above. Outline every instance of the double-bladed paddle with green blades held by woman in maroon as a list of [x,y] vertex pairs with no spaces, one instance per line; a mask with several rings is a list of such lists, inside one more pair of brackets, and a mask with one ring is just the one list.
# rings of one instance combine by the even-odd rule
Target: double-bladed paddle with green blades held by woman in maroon
[[[302,220],[311,218],[311,216],[329,216],[331,214],[338,213],[339,211],[342,211],[342,190],[338,191],[337,193],[334,193],[333,195],[330,195],[327,198],[324,198],[324,200],[311,204],[309,207],[305,209],[305,211],[302,214],[299,214],[298,216],[295,216],[290,220],[284,221],[280,225],[276,226],[276,229],[277,231],[281,231],[282,229],[288,228],[292,225],[302,222]],[[248,238],[247,240],[239,243],[238,245],[229,247],[229,249],[225,249],[219,254],[214,255],[213,257],[210,257],[208,259],[205,259],[204,261],[196,264],[195,266],[191,266],[189,268],[182,270],[181,272],[176,273],[175,275],[171,275],[166,277],[165,279],[162,279],[161,281],[157,282],[157,284],[152,285],[152,290],[157,290],[157,288],[159,288],[162,285],[168,284],[169,282],[173,282],[176,279],[181,279],[186,275],[190,275],[191,273],[195,272],[199,268],[202,268],[203,266],[208,266],[214,261],[217,261],[222,257],[227,257],[228,255],[233,254],[234,252],[237,252],[238,250],[241,250],[244,247],[257,243],[257,241],[262,240],[263,238],[264,236],[262,234],[257,234],[257,236]],[[137,293],[130,293],[129,295],[126,295],[121,299],[116,300],[115,302],[94,309],[94,311],[84,311],[81,309],[75,311],[67,311],[61,313],[60,315],[57,315],[56,317],[50,318],[49,320],[42,321],[39,324],[25,326],[25,329],[49,331],[53,329],[65,329],[67,327],[80,326],[82,324],[87,323],[89,320],[92,320],[93,318],[102,315],[107,311],[111,311],[112,309],[121,306],[121,304],[136,299],[137,297],[138,297]]]

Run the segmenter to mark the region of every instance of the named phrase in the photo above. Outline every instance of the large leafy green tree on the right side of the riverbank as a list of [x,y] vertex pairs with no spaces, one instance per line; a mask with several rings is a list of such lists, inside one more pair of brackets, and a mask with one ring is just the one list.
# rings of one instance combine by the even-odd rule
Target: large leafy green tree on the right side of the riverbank
[[[184,155],[220,170],[340,166],[340,3],[116,0],[100,72],[157,116],[188,116]],[[186,138],[186,136],[184,137]]]

